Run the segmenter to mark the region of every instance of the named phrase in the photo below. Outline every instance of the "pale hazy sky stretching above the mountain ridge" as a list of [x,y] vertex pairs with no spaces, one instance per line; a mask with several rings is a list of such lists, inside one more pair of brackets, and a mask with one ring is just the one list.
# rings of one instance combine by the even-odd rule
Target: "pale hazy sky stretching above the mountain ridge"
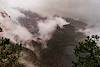
[[[38,12],[42,15],[60,15],[74,17],[92,25],[99,33],[100,28],[100,1],[99,0],[0,0],[0,5],[16,16],[10,8],[23,8]],[[7,8],[8,7],[8,8]],[[18,11],[17,11],[18,12]],[[89,27],[90,28],[90,27]]]

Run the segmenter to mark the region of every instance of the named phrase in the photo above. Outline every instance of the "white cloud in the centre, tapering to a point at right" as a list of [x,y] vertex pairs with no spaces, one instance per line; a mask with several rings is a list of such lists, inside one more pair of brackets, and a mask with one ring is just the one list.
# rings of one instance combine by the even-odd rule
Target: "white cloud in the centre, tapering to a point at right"
[[45,21],[39,21],[38,27],[40,38],[43,40],[49,40],[57,29],[57,26],[63,28],[63,26],[67,24],[69,23],[61,17],[49,17]]

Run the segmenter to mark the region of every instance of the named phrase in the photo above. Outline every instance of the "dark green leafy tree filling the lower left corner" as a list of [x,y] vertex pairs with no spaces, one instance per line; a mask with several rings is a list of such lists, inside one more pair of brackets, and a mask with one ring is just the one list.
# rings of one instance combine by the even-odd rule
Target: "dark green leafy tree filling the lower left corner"
[[0,67],[14,67],[22,50],[21,44],[14,44],[10,39],[0,38]]

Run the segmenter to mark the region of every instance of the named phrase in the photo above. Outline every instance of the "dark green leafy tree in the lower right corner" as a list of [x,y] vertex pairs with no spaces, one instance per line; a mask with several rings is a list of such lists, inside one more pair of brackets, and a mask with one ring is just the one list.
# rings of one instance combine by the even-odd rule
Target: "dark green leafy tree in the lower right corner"
[[99,36],[88,36],[79,42],[74,49],[75,59],[72,67],[100,67],[100,47],[97,46]]

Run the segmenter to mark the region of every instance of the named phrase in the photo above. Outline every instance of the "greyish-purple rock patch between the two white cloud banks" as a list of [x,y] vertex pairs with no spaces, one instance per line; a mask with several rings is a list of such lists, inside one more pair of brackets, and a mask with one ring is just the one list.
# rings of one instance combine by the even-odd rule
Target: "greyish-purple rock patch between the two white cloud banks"
[[26,27],[32,34],[37,34],[39,31],[37,22],[40,20],[46,20],[46,17],[41,17],[37,13],[33,13],[31,11],[20,10],[20,12],[24,14],[25,17],[19,17],[19,23]]

